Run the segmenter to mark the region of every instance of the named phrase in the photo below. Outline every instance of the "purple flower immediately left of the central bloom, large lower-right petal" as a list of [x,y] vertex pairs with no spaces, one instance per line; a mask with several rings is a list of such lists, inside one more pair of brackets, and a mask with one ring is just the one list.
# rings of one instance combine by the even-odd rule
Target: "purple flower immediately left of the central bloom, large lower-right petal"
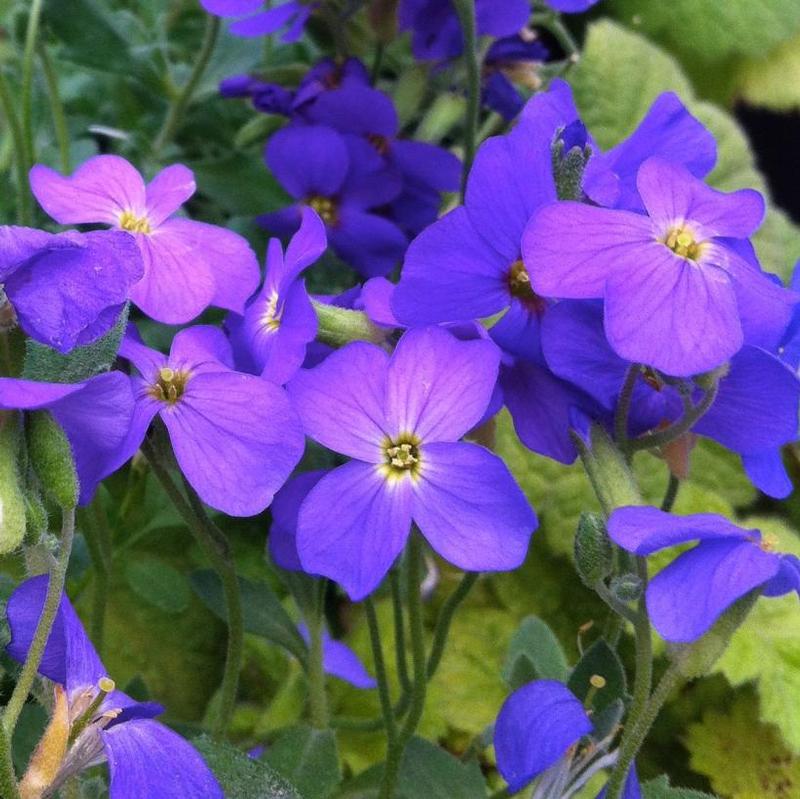
[[272,501],[303,454],[303,432],[284,390],[232,369],[221,331],[187,328],[170,354],[151,350],[129,330],[120,355],[136,408],[118,462],[139,448],[158,414],[186,479],[200,498],[230,516],[252,516]]

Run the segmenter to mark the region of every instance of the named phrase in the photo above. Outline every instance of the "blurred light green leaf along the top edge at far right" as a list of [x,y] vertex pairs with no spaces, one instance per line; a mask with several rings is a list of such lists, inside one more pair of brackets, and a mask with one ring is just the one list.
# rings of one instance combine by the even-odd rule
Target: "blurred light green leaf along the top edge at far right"
[[800,28],[795,0],[615,0],[614,13],[688,59],[758,56]]

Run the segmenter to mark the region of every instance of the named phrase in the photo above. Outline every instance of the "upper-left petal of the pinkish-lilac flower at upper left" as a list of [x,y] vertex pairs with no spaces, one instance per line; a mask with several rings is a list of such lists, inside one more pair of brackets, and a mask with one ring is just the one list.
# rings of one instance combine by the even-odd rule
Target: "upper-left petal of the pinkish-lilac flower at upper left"
[[118,155],[90,158],[71,177],[37,164],[31,169],[30,182],[39,205],[60,225],[117,225],[125,211],[137,217],[146,213],[142,176]]

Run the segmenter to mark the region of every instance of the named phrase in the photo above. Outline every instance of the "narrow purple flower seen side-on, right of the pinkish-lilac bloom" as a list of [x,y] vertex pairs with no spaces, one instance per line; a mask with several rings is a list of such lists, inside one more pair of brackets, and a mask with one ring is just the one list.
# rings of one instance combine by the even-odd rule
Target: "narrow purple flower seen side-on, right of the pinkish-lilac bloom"
[[302,210],[300,229],[284,255],[272,239],[261,291],[243,317],[227,320],[237,366],[282,385],[303,365],[307,345],[317,334],[317,316],[300,278],[327,246],[325,226],[311,209]]

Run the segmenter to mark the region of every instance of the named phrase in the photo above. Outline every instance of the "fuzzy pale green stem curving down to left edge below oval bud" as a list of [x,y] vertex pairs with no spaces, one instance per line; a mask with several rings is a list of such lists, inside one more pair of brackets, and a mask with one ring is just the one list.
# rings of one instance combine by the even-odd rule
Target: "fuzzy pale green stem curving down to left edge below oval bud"
[[22,666],[17,684],[11,698],[8,700],[6,709],[3,712],[3,729],[10,738],[17,725],[19,714],[28,699],[39,665],[42,662],[44,649],[47,639],[55,623],[61,597],[64,594],[64,584],[67,579],[67,567],[69,558],[72,554],[72,543],[75,540],[75,508],[64,508],[61,511],[61,547],[53,567],[50,570],[50,578],[47,583],[47,593],[42,606],[42,615],[36,625],[36,632],[33,634],[33,642],[28,650],[28,657]]

